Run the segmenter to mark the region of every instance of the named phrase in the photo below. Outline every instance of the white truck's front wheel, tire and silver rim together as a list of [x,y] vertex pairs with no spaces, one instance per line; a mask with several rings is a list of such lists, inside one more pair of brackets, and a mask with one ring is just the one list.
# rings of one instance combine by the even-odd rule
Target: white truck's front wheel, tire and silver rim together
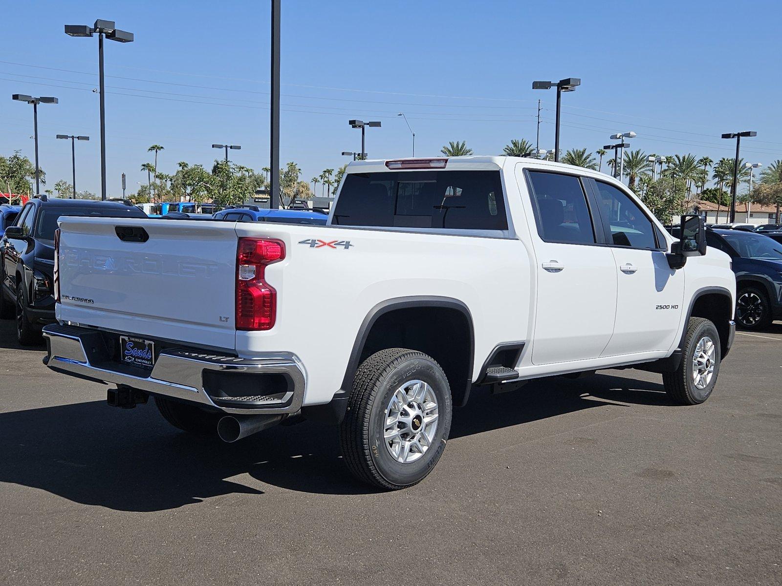
[[663,373],[665,392],[680,405],[698,405],[714,390],[721,359],[719,334],[714,324],[702,317],[691,317],[684,336],[679,368]]

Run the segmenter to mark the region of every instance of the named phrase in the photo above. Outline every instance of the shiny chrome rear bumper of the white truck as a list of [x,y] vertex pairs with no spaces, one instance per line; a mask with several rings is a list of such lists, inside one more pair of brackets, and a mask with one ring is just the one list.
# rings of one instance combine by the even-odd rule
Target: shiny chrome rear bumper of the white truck
[[[123,372],[123,366],[107,360],[102,353],[103,334],[85,327],[45,326],[47,340],[46,365],[60,373],[90,381],[113,383],[138,388],[153,395],[163,395],[201,403],[224,413],[296,413],[304,398],[304,371],[296,356],[289,353],[268,353],[255,359],[207,352],[193,352],[186,348],[167,348],[157,356],[147,376]],[[92,356],[92,359],[90,359]],[[125,369],[127,370],[127,369]],[[281,396],[253,395],[252,400],[210,395],[205,388],[205,373],[225,374],[282,374],[288,381]],[[219,376],[219,374],[217,375]],[[210,375],[214,377],[214,375]]]

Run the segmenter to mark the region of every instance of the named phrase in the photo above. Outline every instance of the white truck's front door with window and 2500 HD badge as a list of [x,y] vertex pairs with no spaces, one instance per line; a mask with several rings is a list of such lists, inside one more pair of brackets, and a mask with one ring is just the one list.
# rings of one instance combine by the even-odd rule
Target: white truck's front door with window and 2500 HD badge
[[602,356],[667,350],[676,338],[684,297],[684,271],[665,259],[667,244],[633,197],[588,180],[599,203],[617,278],[614,335]]

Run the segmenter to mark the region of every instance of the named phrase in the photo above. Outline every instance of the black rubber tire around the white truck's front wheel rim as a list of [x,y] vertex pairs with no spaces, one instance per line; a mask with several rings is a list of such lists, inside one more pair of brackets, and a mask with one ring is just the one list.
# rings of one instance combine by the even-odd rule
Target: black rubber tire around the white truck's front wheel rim
[[[706,366],[713,366],[712,376],[703,388],[698,388],[694,381],[693,359],[698,343],[709,338],[714,346],[713,359]],[[673,401],[680,405],[698,405],[712,395],[719,375],[719,363],[722,359],[719,346],[719,334],[714,324],[702,317],[691,317],[687,324],[687,334],[684,336],[683,356],[679,368],[673,373],[662,374],[662,384],[665,392]]]

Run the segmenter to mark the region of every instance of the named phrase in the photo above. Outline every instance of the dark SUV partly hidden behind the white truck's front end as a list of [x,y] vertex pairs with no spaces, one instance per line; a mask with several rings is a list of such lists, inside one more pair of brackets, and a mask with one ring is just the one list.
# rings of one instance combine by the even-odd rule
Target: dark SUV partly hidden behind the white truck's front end
[[706,244],[731,257],[737,324],[759,330],[772,320],[782,320],[782,244],[741,230],[706,230]]

